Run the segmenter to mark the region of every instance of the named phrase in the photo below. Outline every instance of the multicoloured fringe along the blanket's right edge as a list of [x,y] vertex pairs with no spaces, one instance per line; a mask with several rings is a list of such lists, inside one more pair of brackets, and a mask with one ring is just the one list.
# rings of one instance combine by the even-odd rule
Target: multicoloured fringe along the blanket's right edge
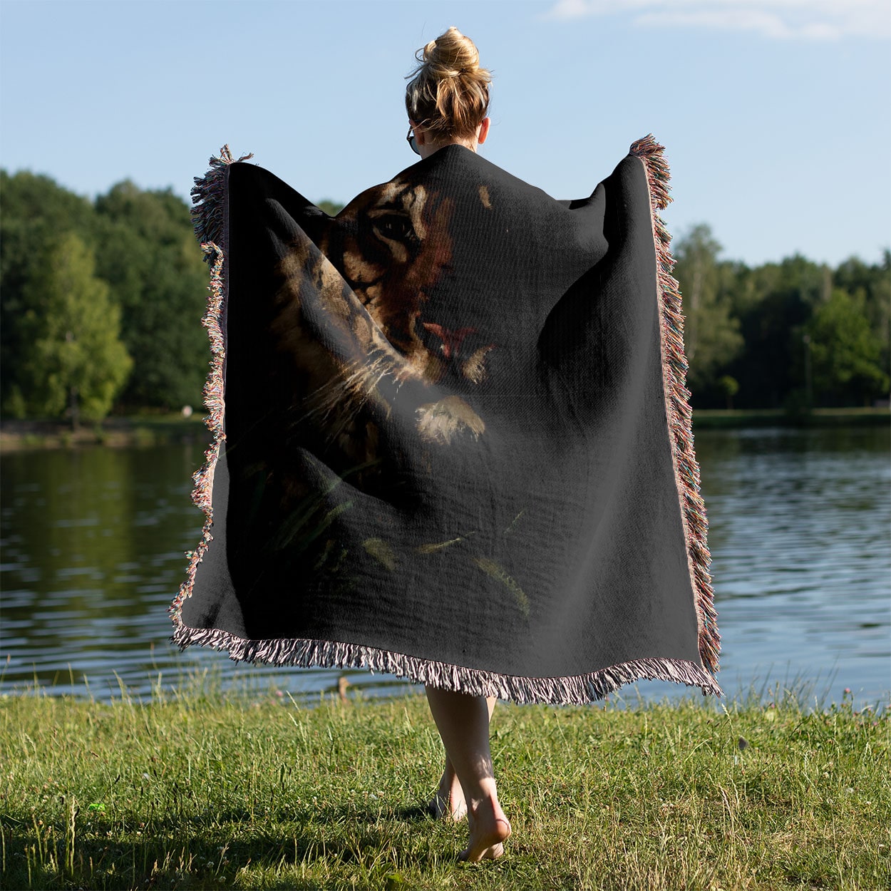
[[664,157],[665,147],[653,135],[646,135],[631,146],[631,154],[640,158],[647,173],[650,190],[650,217],[656,245],[658,300],[662,373],[665,383],[666,411],[674,462],[674,478],[681,501],[684,539],[687,543],[687,564],[690,568],[696,612],[699,621],[699,656],[709,671],[718,670],[721,636],[718,634],[715,592],[708,572],[708,520],[705,504],[699,495],[699,463],[693,450],[690,390],[687,378],[687,357],[683,349],[683,305],[677,279],[671,274],[671,235],[658,211],[671,202],[668,182],[671,178]]

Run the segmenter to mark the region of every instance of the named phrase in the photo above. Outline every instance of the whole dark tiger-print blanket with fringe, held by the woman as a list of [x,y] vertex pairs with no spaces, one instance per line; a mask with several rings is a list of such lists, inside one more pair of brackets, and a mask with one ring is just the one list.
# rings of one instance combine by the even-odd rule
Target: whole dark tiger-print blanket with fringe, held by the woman
[[720,695],[662,147],[558,201],[449,145],[336,217],[221,154],[174,641],[518,702]]

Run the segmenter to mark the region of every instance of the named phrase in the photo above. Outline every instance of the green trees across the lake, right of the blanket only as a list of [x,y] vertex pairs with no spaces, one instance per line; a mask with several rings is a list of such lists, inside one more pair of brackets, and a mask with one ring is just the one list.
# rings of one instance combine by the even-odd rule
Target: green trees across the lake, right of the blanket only
[[691,405],[871,405],[891,370],[891,251],[836,268],[796,255],[748,267],[723,260],[707,225],[674,245]]

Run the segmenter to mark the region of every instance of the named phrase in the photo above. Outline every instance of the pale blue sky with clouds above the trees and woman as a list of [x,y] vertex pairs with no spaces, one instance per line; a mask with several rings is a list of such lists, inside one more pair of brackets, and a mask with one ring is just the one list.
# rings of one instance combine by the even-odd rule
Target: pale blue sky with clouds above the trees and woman
[[495,78],[482,152],[554,197],[652,132],[675,235],[751,265],[891,245],[887,0],[0,0],[0,163],[185,197],[229,143],[346,201],[413,163],[404,78],[453,24]]

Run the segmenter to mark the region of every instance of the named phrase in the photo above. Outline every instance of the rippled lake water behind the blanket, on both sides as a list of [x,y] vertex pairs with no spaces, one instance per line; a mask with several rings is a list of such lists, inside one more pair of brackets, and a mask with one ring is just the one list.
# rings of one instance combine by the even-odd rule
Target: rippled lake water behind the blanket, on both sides
[[[701,430],[722,671],[729,695],[809,684],[840,699],[891,691],[887,428]],[[409,689],[364,671],[235,666],[168,643],[167,609],[200,534],[189,501],[200,444],[5,456],[0,475],[0,691],[37,683],[96,699],[223,683],[317,694],[347,674],[366,695]],[[642,683],[645,697],[673,684]],[[634,691],[632,691],[634,695]]]

